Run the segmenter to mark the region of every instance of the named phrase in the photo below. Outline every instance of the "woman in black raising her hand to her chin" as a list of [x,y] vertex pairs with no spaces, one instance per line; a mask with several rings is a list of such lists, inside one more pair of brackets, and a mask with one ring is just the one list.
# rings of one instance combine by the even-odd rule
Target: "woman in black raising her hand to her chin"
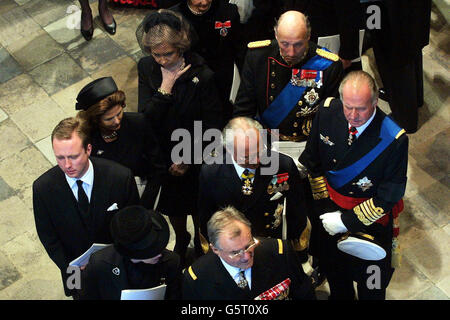
[[[158,210],[170,218],[176,234],[174,251],[182,262],[191,237],[186,229],[188,214],[194,221],[197,255],[202,253],[197,218],[202,154],[194,152],[202,137],[194,136],[194,122],[201,123],[201,131],[195,130],[201,133],[210,128],[220,130],[222,126],[222,107],[213,72],[199,55],[189,51],[190,32],[189,24],[179,13],[165,9],[150,13],[136,31],[143,52],[149,54],[138,63],[138,110],[148,116],[161,143],[167,171]],[[183,161],[172,158],[172,150],[181,143],[172,141],[174,132],[190,134],[190,157],[183,154]]]

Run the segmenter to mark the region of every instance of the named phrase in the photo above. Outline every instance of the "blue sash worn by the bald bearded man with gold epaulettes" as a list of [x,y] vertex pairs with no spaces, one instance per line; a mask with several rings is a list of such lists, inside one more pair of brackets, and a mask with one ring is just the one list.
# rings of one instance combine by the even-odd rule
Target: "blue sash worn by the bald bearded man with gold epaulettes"
[[[323,48],[323,50],[327,50]],[[327,50],[328,51],[328,50]],[[306,62],[302,69],[323,71],[328,68],[333,61],[315,55]],[[320,72],[317,72],[316,82],[320,80]],[[280,123],[287,117],[291,110],[297,105],[297,102],[305,92],[306,87],[298,87],[290,81],[276,97],[276,99],[263,112],[261,120],[268,128],[278,128]]]

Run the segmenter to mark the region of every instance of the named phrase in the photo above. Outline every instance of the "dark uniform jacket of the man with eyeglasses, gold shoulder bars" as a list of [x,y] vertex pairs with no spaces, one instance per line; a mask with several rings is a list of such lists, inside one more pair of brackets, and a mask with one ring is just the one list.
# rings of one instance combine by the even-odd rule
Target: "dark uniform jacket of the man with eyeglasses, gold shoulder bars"
[[209,251],[185,270],[183,299],[250,300],[286,278],[291,280],[291,299],[315,299],[311,280],[287,241],[263,239],[254,251],[251,277],[250,292],[240,289],[220,258]]

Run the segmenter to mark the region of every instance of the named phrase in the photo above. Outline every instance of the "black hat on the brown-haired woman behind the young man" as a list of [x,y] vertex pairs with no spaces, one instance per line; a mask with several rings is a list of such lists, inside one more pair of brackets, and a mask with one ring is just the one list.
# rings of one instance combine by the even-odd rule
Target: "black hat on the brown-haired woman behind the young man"
[[117,85],[111,77],[96,79],[81,89],[77,96],[75,110],[87,110],[90,106],[116,92]]

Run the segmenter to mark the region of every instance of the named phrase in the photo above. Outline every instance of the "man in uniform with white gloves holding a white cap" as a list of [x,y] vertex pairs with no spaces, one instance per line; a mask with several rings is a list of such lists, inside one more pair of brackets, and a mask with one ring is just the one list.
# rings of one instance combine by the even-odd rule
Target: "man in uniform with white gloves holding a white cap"
[[[339,92],[341,100],[320,105],[300,157],[315,199],[310,252],[327,276],[330,299],[354,299],[353,281],[360,300],[384,299],[398,263],[408,137],[377,108],[376,84],[366,72],[349,73]],[[360,239],[345,251],[349,234]]]

